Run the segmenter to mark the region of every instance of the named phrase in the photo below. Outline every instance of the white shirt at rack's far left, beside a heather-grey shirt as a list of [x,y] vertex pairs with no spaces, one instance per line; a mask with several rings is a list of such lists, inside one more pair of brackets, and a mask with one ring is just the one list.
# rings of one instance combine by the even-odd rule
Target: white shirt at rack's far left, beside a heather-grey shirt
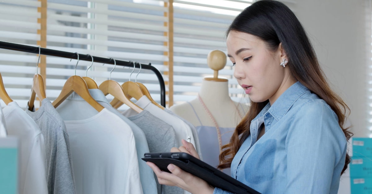
[[10,102],[4,109],[8,135],[20,142],[20,194],[47,194],[45,175],[45,144],[41,131],[17,102]]

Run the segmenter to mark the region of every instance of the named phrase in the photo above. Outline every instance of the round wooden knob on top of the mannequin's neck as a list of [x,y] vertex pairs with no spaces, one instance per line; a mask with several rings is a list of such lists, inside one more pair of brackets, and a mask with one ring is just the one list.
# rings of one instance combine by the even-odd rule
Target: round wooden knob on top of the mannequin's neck
[[213,78],[204,78],[205,80],[226,82],[227,79],[218,78],[218,71],[223,69],[226,65],[226,55],[221,50],[212,50],[208,53],[207,63],[209,68],[214,70]]

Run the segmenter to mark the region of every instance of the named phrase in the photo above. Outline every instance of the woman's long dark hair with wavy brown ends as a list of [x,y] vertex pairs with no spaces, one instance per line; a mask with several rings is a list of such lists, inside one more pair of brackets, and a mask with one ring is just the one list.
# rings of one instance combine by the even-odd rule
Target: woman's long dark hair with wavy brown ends
[[[350,109],[346,103],[334,93],[327,83],[321,70],[314,49],[305,33],[304,28],[295,14],[285,4],[279,1],[262,0],[244,9],[231,23],[227,30],[244,32],[263,40],[268,49],[276,50],[280,43],[288,57],[288,66],[292,76],[306,86],[312,93],[318,95],[332,108],[339,119],[339,125],[347,140],[352,133],[344,127],[346,114]],[[250,110],[237,125],[230,143],[222,147],[219,155],[218,168],[229,168],[232,159],[243,141],[250,135],[250,122],[262,111],[269,101],[251,102]],[[341,174],[350,163],[346,154],[345,165]]]

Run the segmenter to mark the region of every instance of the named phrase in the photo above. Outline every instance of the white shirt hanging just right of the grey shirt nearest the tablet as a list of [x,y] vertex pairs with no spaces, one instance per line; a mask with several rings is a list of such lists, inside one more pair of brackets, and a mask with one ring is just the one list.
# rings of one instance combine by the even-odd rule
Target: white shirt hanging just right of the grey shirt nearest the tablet
[[[181,142],[182,139],[185,139],[185,140],[189,139],[189,142],[191,142],[195,147],[195,140],[192,135],[192,130],[190,126],[187,125],[185,122],[183,122],[180,118],[154,105],[153,103],[151,103],[150,99],[147,98],[147,96],[142,96],[140,99],[138,99],[136,104],[140,106],[142,109],[147,110],[148,112],[150,112],[152,115],[156,116],[157,118],[163,120],[167,124],[173,126],[174,131],[176,132],[176,138],[177,138],[179,146],[182,145],[182,142]],[[126,117],[129,117],[129,116],[137,115],[138,113],[135,112],[133,109],[128,109],[122,112],[122,114]]]

